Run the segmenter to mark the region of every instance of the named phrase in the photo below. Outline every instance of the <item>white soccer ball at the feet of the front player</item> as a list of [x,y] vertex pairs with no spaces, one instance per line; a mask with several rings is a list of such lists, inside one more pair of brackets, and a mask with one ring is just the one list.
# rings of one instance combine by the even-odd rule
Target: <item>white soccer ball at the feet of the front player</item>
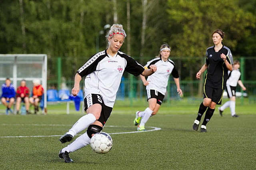
[[98,132],[92,136],[90,145],[97,154],[106,154],[112,148],[113,140],[106,132]]

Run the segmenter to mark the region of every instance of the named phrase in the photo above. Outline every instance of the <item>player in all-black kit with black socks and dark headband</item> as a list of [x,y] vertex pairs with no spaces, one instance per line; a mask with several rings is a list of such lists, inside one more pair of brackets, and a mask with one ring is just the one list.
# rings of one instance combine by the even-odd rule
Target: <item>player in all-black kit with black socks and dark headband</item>
[[222,30],[215,30],[212,33],[214,46],[207,48],[206,63],[196,73],[196,78],[200,79],[201,74],[207,69],[204,79],[204,100],[200,104],[198,116],[193,124],[193,129],[198,130],[202,115],[206,111],[201,132],[207,132],[206,124],[210,121],[216,105],[221,105],[228,70],[232,71],[233,57],[230,49],[222,43],[224,35]]

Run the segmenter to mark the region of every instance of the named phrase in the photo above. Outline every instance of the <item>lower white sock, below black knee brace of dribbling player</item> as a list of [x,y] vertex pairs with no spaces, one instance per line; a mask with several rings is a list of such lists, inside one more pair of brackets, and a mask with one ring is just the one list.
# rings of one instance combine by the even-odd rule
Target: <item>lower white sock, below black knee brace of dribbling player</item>
[[76,150],[90,144],[91,138],[89,138],[87,132],[76,138],[74,142],[69,144],[67,147],[63,148],[61,152],[75,152]]

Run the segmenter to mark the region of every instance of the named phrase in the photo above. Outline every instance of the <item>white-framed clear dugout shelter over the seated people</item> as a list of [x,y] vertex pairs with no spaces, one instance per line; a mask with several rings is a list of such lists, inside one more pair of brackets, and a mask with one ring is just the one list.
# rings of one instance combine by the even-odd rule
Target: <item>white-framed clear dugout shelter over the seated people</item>
[[[33,80],[39,79],[44,88],[44,108],[47,107],[47,55],[46,54],[0,54],[0,84],[9,77],[15,91],[25,79],[30,94]],[[2,94],[2,89],[0,89]],[[43,109],[43,113],[44,113]]]

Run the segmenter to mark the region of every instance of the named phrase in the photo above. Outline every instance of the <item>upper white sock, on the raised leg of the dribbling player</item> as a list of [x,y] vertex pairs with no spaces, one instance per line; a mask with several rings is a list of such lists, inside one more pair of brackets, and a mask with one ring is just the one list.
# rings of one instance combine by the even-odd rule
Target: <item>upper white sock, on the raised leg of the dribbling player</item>
[[73,125],[73,127],[67,132],[67,134],[71,134],[74,137],[76,134],[86,129],[95,121],[96,118],[93,114],[89,113],[87,115],[84,115]]

